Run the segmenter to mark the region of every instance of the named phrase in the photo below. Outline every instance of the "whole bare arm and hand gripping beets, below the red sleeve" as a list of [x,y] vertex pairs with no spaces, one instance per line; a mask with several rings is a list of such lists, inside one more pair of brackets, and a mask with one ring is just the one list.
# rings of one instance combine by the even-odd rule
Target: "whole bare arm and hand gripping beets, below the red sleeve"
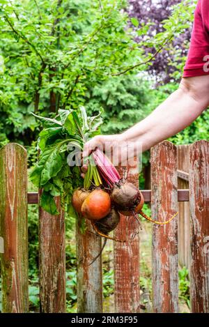
[[[118,135],[99,135],[84,146],[84,157],[96,146],[108,154],[125,142],[141,144],[142,151],[189,126],[209,105],[209,75],[183,78],[177,91],[143,121]],[[104,146],[105,145],[105,146]],[[122,157],[125,151],[122,151]],[[86,172],[86,165],[82,171]]]

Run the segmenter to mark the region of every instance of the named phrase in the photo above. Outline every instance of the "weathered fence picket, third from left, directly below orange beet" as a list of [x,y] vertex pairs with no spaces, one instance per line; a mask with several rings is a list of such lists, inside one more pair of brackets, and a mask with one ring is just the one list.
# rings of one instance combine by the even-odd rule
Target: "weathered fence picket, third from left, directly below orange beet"
[[[82,234],[81,220],[77,220],[77,311],[79,313],[102,312],[102,256],[101,237],[95,235],[91,222],[86,220],[86,232]],[[91,264],[91,265],[90,265]]]

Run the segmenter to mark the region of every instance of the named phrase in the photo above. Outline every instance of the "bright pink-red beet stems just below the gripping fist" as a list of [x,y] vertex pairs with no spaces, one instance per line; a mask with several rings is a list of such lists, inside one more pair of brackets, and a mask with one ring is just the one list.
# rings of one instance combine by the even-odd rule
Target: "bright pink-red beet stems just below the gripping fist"
[[98,166],[98,170],[104,181],[112,188],[115,183],[120,181],[121,176],[118,174],[117,169],[112,165],[111,161],[99,149],[93,151],[93,160]]

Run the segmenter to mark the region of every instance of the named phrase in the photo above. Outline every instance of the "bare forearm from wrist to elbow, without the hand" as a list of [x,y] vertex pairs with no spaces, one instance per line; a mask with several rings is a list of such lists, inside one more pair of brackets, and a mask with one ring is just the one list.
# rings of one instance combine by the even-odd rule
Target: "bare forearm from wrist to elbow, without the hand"
[[207,99],[196,99],[180,86],[162,105],[121,137],[123,141],[140,142],[142,151],[189,126],[206,109]]

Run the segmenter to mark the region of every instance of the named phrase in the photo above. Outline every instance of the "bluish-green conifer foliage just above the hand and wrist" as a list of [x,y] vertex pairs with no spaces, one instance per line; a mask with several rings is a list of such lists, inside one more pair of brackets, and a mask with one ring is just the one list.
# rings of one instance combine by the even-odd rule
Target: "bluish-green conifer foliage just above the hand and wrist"
[[94,114],[104,108],[104,134],[122,132],[150,113],[149,102],[154,100],[150,83],[137,76],[111,77],[89,90],[86,109]]

